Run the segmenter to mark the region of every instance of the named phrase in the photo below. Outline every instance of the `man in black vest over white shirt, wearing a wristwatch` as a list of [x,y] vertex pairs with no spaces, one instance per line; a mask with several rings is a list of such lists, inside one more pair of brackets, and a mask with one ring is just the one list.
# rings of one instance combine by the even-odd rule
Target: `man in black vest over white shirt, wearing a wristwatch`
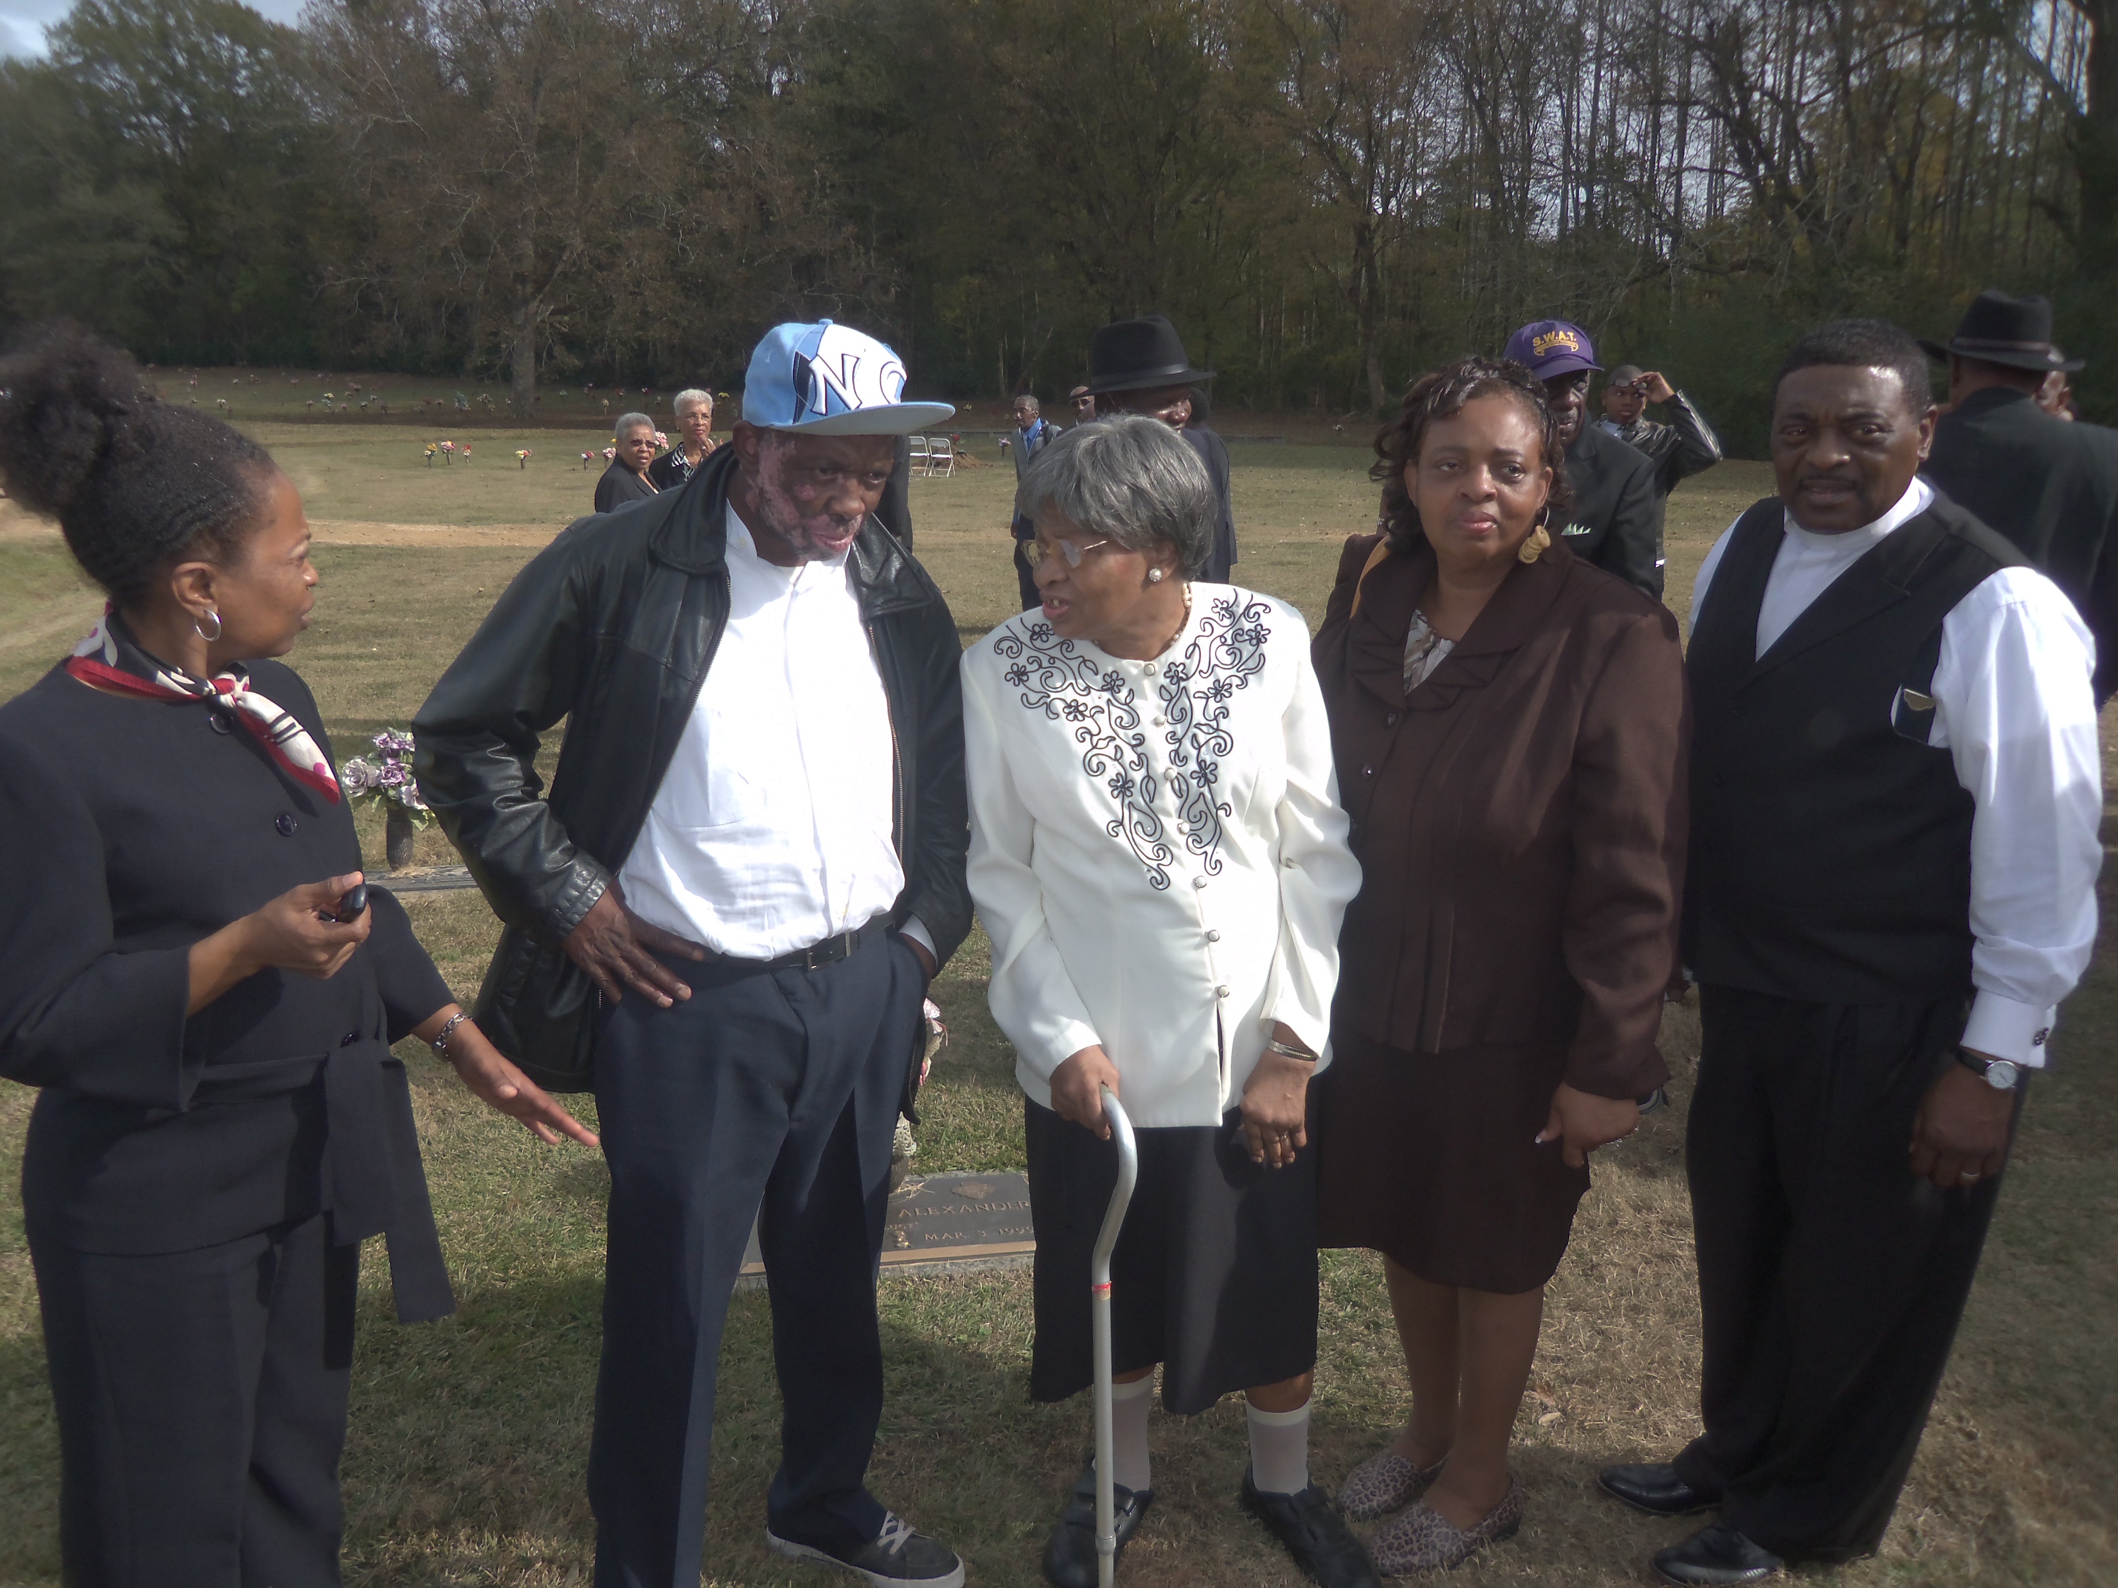
[[1705,1025],[1686,1143],[1705,1436],[1601,1474],[1658,1516],[1720,1510],[1654,1556],[1665,1582],[1877,1548],[2023,1084],[2095,944],[2090,639],[1919,479],[1932,436],[1906,332],[1811,332],[1775,392],[1779,495],[1699,570],[1684,934]]

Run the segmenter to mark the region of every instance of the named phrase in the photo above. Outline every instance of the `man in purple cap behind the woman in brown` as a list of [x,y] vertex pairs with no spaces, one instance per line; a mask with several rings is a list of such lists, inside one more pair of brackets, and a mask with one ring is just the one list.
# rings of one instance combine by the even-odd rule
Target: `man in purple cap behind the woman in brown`
[[1544,381],[1559,419],[1574,487],[1574,512],[1559,531],[1567,551],[1661,601],[1663,498],[1654,489],[1654,459],[1586,423],[1588,375],[1603,368],[1588,332],[1569,320],[1531,320],[1508,337],[1502,356]]

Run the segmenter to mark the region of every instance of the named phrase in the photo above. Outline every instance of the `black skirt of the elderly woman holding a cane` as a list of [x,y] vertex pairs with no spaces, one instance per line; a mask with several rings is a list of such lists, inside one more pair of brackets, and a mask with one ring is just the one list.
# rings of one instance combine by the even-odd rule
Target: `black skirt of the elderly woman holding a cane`
[[[1095,1383],[1089,1258],[1118,1184],[1118,1148],[1025,1103],[1036,1224],[1034,1400]],[[1317,1359],[1315,1154],[1250,1160],[1241,1114],[1218,1129],[1135,1133],[1139,1184],[1110,1260],[1112,1370],[1163,1364],[1163,1408],[1203,1412]]]

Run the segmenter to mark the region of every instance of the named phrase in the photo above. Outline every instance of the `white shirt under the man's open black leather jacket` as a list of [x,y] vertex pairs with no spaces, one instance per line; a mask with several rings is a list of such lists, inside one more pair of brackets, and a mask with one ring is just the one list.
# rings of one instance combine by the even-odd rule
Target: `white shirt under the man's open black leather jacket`
[[618,885],[652,925],[775,959],[904,889],[896,739],[845,557],[777,567],[731,506],[726,563],[729,627]]

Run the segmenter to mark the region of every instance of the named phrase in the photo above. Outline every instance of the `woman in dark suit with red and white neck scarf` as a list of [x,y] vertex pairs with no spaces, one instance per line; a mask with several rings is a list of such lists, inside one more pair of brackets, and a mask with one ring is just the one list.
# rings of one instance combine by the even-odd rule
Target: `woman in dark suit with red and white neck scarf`
[[544,1141],[595,1137],[362,891],[316,701],[301,498],[78,330],[0,362],[0,476],[110,597],[0,707],[0,1076],[40,1086],[23,1217],[68,1584],[333,1584],[360,1241],[453,1311],[390,1044]]

